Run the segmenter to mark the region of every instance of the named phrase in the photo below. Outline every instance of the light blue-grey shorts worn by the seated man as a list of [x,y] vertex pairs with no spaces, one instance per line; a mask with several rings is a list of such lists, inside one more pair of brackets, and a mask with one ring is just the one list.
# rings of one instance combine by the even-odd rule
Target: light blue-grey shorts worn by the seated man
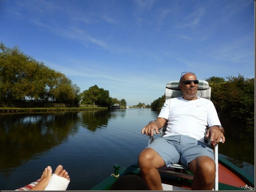
[[147,148],[155,150],[167,167],[181,163],[188,168],[188,163],[199,156],[208,156],[214,160],[213,150],[209,144],[185,135],[157,138]]

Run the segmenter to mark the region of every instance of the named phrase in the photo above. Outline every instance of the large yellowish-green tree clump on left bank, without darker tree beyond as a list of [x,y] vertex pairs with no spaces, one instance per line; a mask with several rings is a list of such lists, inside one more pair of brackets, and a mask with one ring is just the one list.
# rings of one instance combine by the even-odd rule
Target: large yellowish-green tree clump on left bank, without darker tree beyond
[[[0,102],[71,103],[79,100],[80,89],[64,74],[49,69],[25,55],[18,46],[0,44]],[[77,98],[77,99],[76,99]],[[79,102],[79,101],[77,101]]]

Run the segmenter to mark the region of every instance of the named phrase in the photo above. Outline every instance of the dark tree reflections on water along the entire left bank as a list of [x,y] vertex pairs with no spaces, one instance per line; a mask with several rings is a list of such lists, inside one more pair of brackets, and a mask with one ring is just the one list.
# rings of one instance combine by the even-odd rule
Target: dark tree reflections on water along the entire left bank
[[124,118],[106,110],[0,115],[0,169],[17,167],[35,154],[43,154],[68,140],[83,127],[92,132],[106,128],[111,118]]

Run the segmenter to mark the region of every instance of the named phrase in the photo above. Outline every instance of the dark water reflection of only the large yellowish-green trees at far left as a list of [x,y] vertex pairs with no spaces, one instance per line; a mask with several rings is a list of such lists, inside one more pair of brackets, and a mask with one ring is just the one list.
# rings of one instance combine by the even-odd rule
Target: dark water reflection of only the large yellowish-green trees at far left
[[67,140],[77,131],[77,113],[0,115],[0,168],[17,167]]

